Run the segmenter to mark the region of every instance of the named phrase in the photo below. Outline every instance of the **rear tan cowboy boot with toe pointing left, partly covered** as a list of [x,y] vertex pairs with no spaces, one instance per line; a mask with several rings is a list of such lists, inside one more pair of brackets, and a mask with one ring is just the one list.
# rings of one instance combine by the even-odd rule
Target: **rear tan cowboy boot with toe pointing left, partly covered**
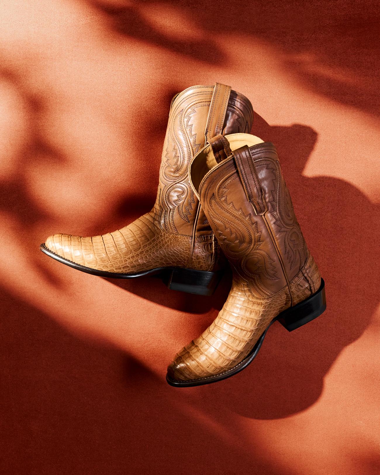
[[249,132],[252,104],[226,85],[193,86],[174,96],[152,211],[103,236],[55,234],[41,244],[75,269],[113,278],[162,274],[171,289],[210,295],[223,258],[190,187],[193,156],[218,134]]

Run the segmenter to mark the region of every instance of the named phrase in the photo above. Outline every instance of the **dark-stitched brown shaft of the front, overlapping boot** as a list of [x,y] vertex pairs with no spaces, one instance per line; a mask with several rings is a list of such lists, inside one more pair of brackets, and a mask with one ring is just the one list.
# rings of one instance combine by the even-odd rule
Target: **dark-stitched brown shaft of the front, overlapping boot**
[[[287,287],[292,298],[291,283],[299,275],[313,292],[319,272],[295,217],[276,147],[253,137],[227,136],[235,150],[220,163],[211,147],[200,152],[191,165],[194,188],[236,278],[246,281],[253,295],[266,298]],[[312,277],[311,267],[316,268]]]

